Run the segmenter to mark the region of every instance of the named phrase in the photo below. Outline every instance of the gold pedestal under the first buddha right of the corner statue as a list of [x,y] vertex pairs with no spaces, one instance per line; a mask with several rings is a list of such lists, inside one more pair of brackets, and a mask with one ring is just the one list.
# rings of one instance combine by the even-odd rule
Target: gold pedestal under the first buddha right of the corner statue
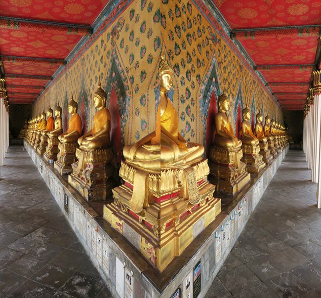
[[241,147],[225,149],[212,145],[209,149],[208,163],[213,183],[217,191],[236,195],[250,181],[250,174],[241,161],[243,157]]

